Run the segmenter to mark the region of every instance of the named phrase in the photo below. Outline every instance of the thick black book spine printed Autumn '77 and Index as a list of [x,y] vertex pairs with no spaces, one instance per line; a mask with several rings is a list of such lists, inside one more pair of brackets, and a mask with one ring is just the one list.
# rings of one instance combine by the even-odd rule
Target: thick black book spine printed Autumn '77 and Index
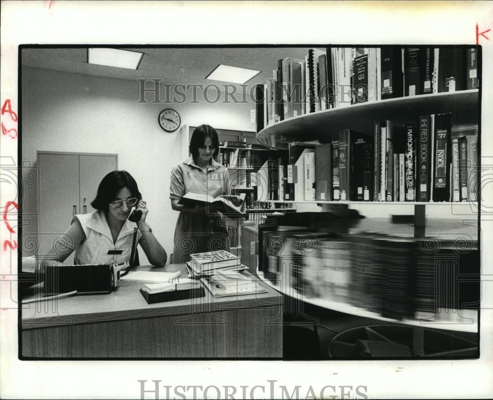
[[451,113],[435,115],[433,201],[450,197],[451,127]]

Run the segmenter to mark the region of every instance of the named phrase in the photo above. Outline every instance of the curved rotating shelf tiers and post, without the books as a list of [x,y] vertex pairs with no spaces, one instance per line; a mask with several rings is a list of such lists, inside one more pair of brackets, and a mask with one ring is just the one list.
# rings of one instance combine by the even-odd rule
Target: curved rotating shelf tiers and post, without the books
[[[416,121],[423,114],[452,112],[454,126],[452,131],[479,126],[479,89],[463,90],[452,93],[436,93],[412,97],[401,97],[389,100],[360,103],[343,108],[328,109],[314,113],[299,115],[282,120],[267,126],[257,133],[257,141],[263,145],[276,149],[287,149],[292,142],[329,143],[332,135],[341,129],[352,129],[359,132],[373,132],[375,120],[390,119],[397,124]],[[414,207],[414,237],[425,235],[426,206],[428,207],[471,207],[472,212],[479,212],[477,203],[457,202],[356,202],[356,201],[298,201],[299,204],[317,204],[322,212],[334,210],[347,210],[350,205],[378,205],[388,207],[412,206]],[[470,215],[469,215],[470,216]],[[368,218],[372,219],[372,218]],[[479,235],[479,232],[478,232]],[[479,238],[478,238],[479,239]],[[478,240],[479,243],[479,240]],[[476,310],[460,310],[459,313],[450,313],[444,310],[440,315],[420,316],[416,319],[399,321],[384,318],[380,314],[364,311],[349,304],[327,301],[321,298],[308,298],[296,292],[293,288],[284,290],[274,285],[263,277],[258,271],[258,276],[271,287],[278,291],[294,296],[294,298],[311,303],[323,308],[328,308],[352,315],[375,318],[384,321],[400,322],[414,327],[417,340],[423,338],[423,327],[435,327],[440,329],[464,330],[477,332],[479,312]],[[456,310],[453,310],[456,311]],[[459,316],[461,321],[456,321],[451,316]],[[463,324],[463,318],[472,321],[472,324]],[[423,325],[423,319],[426,321]]]

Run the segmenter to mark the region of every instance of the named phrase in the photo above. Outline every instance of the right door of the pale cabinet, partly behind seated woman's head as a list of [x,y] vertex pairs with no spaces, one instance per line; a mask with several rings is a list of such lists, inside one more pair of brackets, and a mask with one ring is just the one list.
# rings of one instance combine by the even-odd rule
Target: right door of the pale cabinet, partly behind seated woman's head
[[83,213],[84,198],[87,212],[94,211],[91,201],[96,198],[99,183],[107,173],[116,170],[116,164],[116,155],[81,154],[79,156],[80,210],[77,209],[78,213]]

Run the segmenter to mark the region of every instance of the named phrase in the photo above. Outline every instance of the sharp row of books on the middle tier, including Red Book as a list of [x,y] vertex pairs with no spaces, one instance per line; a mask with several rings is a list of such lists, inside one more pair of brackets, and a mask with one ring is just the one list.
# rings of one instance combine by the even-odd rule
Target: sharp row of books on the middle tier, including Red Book
[[258,193],[284,201],[477,200],[478,129],[452,132],[451,113],[378,120],[373,133],[343,129],[326,141],[293,142],[288,160],[268,159],[254,183],[268,188]]

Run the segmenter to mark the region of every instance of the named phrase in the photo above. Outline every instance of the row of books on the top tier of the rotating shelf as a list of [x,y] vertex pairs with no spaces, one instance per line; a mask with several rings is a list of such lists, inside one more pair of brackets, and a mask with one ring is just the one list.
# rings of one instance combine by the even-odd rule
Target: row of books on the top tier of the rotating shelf
[[330,47],[278,61],[255,87],[257,132],[283,119],[404,96],[477,89],[478,49]]

